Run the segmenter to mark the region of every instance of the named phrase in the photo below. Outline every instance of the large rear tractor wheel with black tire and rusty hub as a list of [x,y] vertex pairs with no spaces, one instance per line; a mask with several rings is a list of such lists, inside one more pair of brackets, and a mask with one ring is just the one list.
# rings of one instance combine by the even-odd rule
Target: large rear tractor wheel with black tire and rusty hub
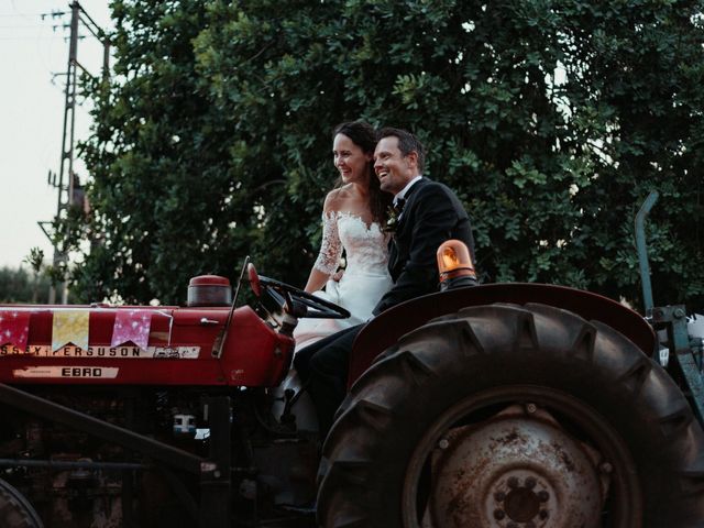
[[704,436],[632,342],[543,305],[404,336],[323,446],[324,528],[704,526]]

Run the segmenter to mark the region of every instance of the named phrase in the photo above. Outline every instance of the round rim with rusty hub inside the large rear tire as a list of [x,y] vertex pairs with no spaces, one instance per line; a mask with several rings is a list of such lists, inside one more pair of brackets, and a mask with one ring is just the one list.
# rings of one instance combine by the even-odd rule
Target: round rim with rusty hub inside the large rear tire
[[[481,392],[448,409],[416,447],[406,528],[632,527],[632,458],[588,405],[548,387]],[[579,522],[579,524],[578,524]]]

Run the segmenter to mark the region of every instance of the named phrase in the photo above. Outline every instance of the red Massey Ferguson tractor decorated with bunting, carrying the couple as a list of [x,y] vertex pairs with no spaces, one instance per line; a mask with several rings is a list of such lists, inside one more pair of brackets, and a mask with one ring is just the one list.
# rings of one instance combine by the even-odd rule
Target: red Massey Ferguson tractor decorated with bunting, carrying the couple
[[0,307],[0,526],[704,522],[702,350],[680,307],[648,321],[536,284],[407,301],[359,336],[321,448],[292,331],[345,312],[248,278],[254,308],[212,276],[185,307]]

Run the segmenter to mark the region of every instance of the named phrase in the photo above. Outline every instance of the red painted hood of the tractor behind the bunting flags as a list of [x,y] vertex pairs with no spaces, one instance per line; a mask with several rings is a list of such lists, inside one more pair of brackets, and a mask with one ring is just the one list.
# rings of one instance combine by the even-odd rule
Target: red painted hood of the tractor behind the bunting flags
[[[9,308],[9,307],[8,307]],[[29,350],[33,345],[52,344],[52,320],[58,306],[12,306],[31,311]],[[179,308],[139,307],[153,310],[150,346],[198,346],[198,359],[123,359],[122,346],[110,346],[116,314],[136,307],[103,308],[72,306],[90,310],[89,344],[91,348],[116,349],[113,358],[34,356],[0,354],[0,383],[70,384],[70,385],[231,385],[275,386],[290,364],[293,340],[277,333],[249,307],[238,308],[230,324],[221,358],[212,356],[216,338],[221,333],[229,307]],[[2,309],[2,307],[0,307]],[[173,318],[173,323],[172,323]],[[201,319],[207,322],[201,323]],[[130,343],[125,343],[129,345]],[[11,350],[11,349],[6,349]],[[61,349],[59,349],[61,350]],[[45,377],[16,378],[12,372],[28,367],[118,367],[116,378]]]

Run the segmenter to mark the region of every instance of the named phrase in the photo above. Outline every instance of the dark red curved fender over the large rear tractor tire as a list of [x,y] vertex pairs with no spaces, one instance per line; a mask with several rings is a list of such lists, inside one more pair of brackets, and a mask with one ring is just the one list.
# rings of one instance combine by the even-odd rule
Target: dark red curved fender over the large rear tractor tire
[[648,356],[652,356],[656,349],[652,327],[638,312],[602,295],[551,284],[488,284],[409,299],[372,319],[354,341],[348,386],[352,386],[380,353],[430,319],[454,314],[462,308],[496,302],[539,302],[569,310],[587,321],[608,324]]

